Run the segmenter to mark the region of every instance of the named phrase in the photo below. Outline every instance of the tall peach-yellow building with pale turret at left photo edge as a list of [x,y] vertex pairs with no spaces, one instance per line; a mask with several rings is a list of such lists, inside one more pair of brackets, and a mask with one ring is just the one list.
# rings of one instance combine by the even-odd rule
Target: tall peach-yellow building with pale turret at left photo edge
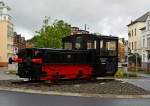
[[9,15],[10,7],[0,2],[0,66],[7,65],[13,56],[13,24]]

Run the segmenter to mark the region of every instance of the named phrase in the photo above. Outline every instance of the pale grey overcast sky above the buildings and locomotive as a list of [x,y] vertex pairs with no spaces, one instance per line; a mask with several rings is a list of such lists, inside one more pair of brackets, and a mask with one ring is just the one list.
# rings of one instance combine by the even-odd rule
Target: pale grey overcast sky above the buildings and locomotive
[[63,19],[89,31],[127,38],[127,27],[150,11],[150,0],[3,0],[11,7],[14,29],[26,39],[40,29],[45,16]]

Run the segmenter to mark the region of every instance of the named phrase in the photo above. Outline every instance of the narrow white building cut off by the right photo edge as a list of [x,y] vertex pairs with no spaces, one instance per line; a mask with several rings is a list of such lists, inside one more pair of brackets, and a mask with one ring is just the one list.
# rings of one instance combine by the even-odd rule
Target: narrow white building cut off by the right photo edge
[[[141,29],[142,31],[142,67],[150,68],[150,12],[146,19],[146,26]],[[149,57],[149,58],[148,58]]]

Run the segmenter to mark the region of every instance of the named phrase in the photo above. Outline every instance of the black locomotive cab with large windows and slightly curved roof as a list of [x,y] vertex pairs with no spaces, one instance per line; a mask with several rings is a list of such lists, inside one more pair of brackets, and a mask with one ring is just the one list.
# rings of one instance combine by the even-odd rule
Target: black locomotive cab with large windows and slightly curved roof
[[118,68],[118,38],[113,36],[81,34],[62,39],[63,49],[92,50],[93,76],[114,75]]

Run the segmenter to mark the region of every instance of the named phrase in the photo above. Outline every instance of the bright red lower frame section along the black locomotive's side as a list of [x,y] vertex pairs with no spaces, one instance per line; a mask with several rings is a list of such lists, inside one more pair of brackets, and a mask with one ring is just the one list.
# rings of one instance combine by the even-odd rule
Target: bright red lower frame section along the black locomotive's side
[[92,75],[93,67],[88,64],[50,64],[43,65],[42,71],[47,73],[46,77],[41,80],[57,80],[57,79],[89,79]]

